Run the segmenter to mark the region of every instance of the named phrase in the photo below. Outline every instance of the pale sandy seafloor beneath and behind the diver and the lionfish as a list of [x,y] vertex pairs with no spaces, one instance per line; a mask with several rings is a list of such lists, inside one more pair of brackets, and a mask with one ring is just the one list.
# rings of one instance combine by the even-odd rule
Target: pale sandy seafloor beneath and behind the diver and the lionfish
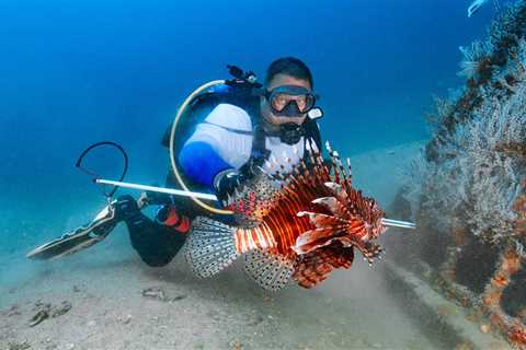
[[[420,145],[352,158],[355,185],[388,205],[400,186],[400,167]],[[399,238],[403,244],[403,235]],[[359,254],[350,270],[312,290],[290,285],[266,293],[244,276],[241,264],[207,280],[196,279],[182,256],[168,267],[149,268],[132,249],[123,224],[103,243],[59,261],[26,260],[30,248],[0,257],[0,349],[437,347],[386,292],[389,262],[369,267]],[[144,296],[148,288],[162,290],[164,299]],[[62,302],[71,304],[68,312],[30,327],[38,303]]]

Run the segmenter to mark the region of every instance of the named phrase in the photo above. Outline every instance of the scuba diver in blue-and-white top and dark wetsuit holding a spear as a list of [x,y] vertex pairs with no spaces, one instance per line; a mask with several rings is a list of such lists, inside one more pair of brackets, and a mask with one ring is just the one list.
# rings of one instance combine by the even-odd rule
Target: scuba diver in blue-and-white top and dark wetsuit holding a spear
[[[237,83],[203,94],[194,103],[194,109],[204,113],[205,118],[194,126],[175,160],[186,184],[215,194],[221,202],[253,175],[254,166],[265,168],[267,160],[287,154],[291,159],[283,164],[286,172],[302,156],[306,140],[313,140],[322,149],[316,121],[322,113],[316,106],[312,74],[301,60],[285,57],[272,62],[264,85],[255,81],[252,72],[229,68]],[[169,131],[162,143],[170,149]],[[169,171],[168,188],[178,187],[175,175],[173,170]],[[141,212],[149,205],[158,206],[153,220]],[[147,191],[135,200],[124,195],[87,226],[37,247],[27,256],[49,259],[75,253],[102,241],[124,221],[140,258],[149,266],[160,267],[178,254],[192,229],[192,220],[203,214],[210,215],[190,198]],[[233,220],[231,217],[219,219]]]

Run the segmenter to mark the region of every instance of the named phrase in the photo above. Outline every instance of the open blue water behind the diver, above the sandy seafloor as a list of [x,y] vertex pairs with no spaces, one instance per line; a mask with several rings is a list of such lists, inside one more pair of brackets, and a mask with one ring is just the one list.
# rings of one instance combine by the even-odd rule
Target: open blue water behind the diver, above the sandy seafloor
[[187,94],[229,78],[226,65],[263,80],[278,57],[305,60],[322,137],[345,155],[425,138],[433,94],[457,84],[458,46],[494,14],[468,19],[468,4],[0,1],[0,249],[55,236],[102,199],[73,166],[91,143],[125,148],[127,180],[162,183],[162,133]]

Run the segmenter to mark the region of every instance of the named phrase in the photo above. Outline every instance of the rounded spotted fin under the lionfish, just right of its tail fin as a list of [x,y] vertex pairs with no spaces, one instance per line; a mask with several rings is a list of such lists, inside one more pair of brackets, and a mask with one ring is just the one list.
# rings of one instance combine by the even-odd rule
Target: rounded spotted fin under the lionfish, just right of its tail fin
[[245,255],[244,270],[261,288],[267,291],[277,291],[291,279],[294,260],[266,253],[252,250]]

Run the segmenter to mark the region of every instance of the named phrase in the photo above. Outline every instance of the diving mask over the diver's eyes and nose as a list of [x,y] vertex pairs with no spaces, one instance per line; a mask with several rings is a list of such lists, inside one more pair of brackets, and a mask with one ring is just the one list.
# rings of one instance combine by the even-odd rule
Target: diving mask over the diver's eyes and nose
[[316,96],[298,85],[282,85],[265,92],[265,98],[277,117],[301,117],[315,107]]

